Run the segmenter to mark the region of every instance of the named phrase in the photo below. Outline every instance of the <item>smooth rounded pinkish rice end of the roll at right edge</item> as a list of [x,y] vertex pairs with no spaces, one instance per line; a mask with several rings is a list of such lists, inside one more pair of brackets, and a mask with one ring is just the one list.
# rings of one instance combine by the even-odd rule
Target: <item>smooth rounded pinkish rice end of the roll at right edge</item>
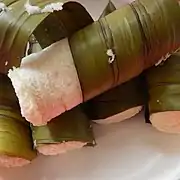
[[180,134],[180,112],[167,111],[154,113],[150,116],[152,125],[159,131]]

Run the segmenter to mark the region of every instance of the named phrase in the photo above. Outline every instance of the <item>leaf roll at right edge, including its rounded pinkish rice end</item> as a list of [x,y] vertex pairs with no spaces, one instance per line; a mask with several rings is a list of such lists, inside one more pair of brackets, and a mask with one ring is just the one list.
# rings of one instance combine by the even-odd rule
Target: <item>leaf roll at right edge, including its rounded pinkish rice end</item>
[[167,133],[180,133],[180,52],[146,73],[152,125]]

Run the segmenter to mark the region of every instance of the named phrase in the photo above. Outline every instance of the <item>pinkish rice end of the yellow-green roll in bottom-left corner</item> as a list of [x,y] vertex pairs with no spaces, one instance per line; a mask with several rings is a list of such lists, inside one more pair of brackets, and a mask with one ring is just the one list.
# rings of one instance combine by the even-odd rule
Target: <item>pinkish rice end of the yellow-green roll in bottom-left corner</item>
[[13,167],[22,167],[28,164],[30,164],[30,161],[23,158],[0,155],[1,167],[13,168]]

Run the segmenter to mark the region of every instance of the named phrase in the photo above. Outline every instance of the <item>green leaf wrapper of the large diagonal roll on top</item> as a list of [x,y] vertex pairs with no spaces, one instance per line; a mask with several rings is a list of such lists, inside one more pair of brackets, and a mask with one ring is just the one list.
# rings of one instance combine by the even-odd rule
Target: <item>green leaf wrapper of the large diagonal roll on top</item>
[[[141,13],[137,7],[143,7]],[[84,101],[138,76],[177,50],[179,22],[176,0],[139,0],[75,33],[70,46]],[[108,49],[116,57],[112,63],[108,62]]]

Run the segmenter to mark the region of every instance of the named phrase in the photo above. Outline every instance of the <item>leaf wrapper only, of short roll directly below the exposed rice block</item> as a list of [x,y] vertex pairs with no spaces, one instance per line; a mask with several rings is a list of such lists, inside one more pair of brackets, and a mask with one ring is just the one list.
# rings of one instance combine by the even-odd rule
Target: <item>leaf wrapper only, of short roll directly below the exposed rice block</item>
[[80,107],[67,111],[46,126],[32,127],[36,147],[44,144],[59,144],[68,141],[94,144],[90,120]]

